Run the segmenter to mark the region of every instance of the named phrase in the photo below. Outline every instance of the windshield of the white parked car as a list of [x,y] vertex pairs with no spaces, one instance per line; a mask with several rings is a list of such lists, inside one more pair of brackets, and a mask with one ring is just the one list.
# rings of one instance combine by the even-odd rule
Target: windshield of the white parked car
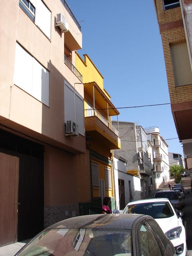
[[174,215],[168,202],[146,202],[128,205],[124,213],[150,215],[154,219],[168,218]]

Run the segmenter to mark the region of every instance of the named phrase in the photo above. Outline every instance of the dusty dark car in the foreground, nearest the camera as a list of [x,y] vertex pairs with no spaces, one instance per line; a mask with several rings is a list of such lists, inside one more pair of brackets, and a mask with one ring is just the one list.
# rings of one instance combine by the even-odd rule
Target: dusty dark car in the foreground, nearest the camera
[[15,256],[176,256],[151,216],[93,214],[46,228]]

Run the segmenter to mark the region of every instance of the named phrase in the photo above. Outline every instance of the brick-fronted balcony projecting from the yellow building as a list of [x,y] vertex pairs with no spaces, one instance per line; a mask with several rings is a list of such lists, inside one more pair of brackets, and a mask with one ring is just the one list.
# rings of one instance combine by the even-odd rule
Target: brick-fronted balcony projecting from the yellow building
[[86,110],[85,131],[109,149],[120,149],[119,133],[97,110]]

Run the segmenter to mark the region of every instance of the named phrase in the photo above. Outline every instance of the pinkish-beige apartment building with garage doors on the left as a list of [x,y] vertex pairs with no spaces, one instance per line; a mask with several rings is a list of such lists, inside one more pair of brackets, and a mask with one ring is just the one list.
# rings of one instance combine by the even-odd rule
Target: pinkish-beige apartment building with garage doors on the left
[[[0,246],[79,215],[80,25],[64,0],[0,1]],[[78,86],[76,86],[78,84]]]

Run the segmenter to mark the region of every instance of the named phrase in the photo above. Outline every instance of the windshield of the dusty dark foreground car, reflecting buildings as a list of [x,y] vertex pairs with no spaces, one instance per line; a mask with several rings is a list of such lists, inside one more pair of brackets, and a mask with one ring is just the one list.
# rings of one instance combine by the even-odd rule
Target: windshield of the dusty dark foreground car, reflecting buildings
[[55,228],[39,234],[19,256],[132,255],[131,231],[104,228]]

